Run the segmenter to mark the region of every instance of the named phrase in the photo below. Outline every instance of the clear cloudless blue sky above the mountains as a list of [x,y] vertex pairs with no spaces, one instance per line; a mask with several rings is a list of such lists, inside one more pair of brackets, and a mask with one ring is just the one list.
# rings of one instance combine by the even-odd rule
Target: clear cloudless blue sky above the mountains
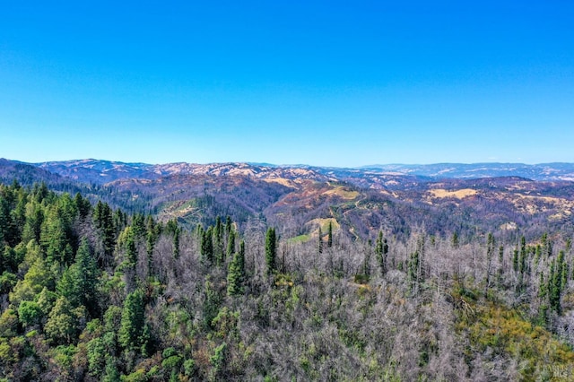
[[4,2],[0,157],[574,161],[574,4]]

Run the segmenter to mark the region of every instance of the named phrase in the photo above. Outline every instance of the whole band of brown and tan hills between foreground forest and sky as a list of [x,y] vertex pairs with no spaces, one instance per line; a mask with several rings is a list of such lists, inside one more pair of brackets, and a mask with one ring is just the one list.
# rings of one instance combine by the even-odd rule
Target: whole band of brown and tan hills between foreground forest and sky
[[[439,163],[357,169],[254,163],[0,160],[0,181],[45,182],[128,212],[193,227],[230,215],[240,224],[309,238],[326,220],[352,238],[379,229],[475,235],[491,230],[574,233],[574,163]],[[246,226],[247,227],[247,226]]]

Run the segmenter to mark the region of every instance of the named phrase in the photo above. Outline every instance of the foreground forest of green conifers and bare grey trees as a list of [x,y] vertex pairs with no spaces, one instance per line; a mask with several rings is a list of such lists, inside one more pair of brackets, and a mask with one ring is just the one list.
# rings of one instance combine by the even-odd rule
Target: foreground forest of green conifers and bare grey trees
[[[193,230],[0,185],[1,380],[571,380],[570,237]],[[291,229],[291,228],[290,228]]]

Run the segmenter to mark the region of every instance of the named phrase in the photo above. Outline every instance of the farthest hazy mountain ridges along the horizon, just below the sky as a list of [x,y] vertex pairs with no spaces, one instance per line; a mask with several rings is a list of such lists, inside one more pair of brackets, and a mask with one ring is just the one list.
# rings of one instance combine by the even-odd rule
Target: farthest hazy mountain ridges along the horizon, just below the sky
[[105,184],[125,178],[160,178],[173,174],[221,173],[233,175],[246,173],[251,176],[277,171],[278,169],[308,169],[329,178],[388,178],[413,176],[431,179],[441,178],[499,178],[520,177],[540,181],[574,181],[574,163],[436,163],[436,164],[386,164],[361,168],[317,167],[307,165],[274,165],[268,163],[212,163],[190,164],[185,162],[168,164],[124,163],[119,161],[48,161],[24,163],[46,169],[67,178],[83,182]]

